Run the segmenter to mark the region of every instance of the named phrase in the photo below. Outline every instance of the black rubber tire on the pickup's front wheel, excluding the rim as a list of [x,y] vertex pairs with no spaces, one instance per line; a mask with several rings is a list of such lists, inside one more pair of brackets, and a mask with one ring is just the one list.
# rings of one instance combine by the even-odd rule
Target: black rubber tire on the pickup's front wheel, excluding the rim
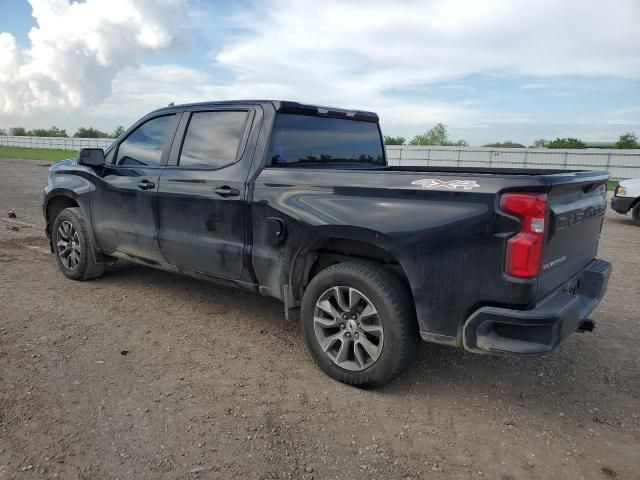
[[[71,236],[67,234],[67,236],[69,240],[79,243],[80,247],[78,250],[74,250],[74,259],[77,258],[77,261],[74,260],[72,262],[64,255],[65,260],[61,257],[61,252],[68,251],[60,242],[64,243],[66,241],[63,232],[69,225],[73,227],[74,234]],[[61,228],[63,229],[62,232],[60,231]],[[102,276],[104,273],[104,265],[95,261],[95,251],[91,243],[91,237],[79,208],[65,208],[58,214],[51,228],[51,240],[58,268],[67,278],[79,281],[91,280]],[[67,262],[70,262],[70,264],[67,264]]]

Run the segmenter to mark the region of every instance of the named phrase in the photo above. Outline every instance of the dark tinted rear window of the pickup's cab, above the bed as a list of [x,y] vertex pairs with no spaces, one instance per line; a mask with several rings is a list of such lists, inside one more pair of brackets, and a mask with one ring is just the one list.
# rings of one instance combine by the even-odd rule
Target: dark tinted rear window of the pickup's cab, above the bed
[[271,166],[385,164],[377,123],[281,113],[271,139]]

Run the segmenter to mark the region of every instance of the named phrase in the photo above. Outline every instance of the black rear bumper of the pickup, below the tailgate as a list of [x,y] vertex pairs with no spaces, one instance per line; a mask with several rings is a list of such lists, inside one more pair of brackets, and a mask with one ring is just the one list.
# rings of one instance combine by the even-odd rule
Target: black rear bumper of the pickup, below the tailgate
[[465,322],[463,343],[477,353],[540,355],[580,329],[607,289],[611,264],[594,260],[530,310],[482,307]]

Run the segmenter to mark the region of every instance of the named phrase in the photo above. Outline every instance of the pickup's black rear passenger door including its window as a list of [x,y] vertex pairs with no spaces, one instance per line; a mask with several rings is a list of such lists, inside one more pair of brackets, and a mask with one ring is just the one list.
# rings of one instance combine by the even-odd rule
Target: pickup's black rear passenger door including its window
[[158,190],[158,243],[169,263],[242,275],[253,117],[251,108],[185,112]]

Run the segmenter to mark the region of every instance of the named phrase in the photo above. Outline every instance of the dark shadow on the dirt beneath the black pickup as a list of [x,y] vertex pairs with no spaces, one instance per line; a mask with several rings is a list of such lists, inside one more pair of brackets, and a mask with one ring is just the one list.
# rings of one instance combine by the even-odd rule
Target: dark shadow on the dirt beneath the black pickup
[[[268,330],[276,337],[286,337],[290,342],[287,348],[293,348],[300,361],[308,363],[303,368],[314,370],[313,375],[322,377],[326,387],[336,385],[313,365],[299,326],[284,320],[282,303],[273,298],[124,263],[109,267],[98,282],[117,284],[123,290],[140,289],[143,285],[151,287],[156,295],[170,301],[171,308],[182,312],[181,321],[190,321],[189,317],[197,321],[198,315],[213,312],[220,317],[209,320],[212,327],[224,318],[227,325],[236,322],[248,331]],[[172,311],[163,313],[171,315]],[[498,402],[506,405],[505,408],[570,411],[581,404],[586,389],[594,389],[589,397],[600,398],[602,405],[599,406],[604,408],[605,396],[598,397],[598,393],[609,388],[606,369],[593,365],[597,344],[585,344],[586,335],[590,334],[576,333],[556,351],[535,358],[478,355],[422,343],[409,372],[367,394],[373,397],[439,395],[451,401],[466,396],[481,402]],[[637,378],[627,380],[637,381]]]

